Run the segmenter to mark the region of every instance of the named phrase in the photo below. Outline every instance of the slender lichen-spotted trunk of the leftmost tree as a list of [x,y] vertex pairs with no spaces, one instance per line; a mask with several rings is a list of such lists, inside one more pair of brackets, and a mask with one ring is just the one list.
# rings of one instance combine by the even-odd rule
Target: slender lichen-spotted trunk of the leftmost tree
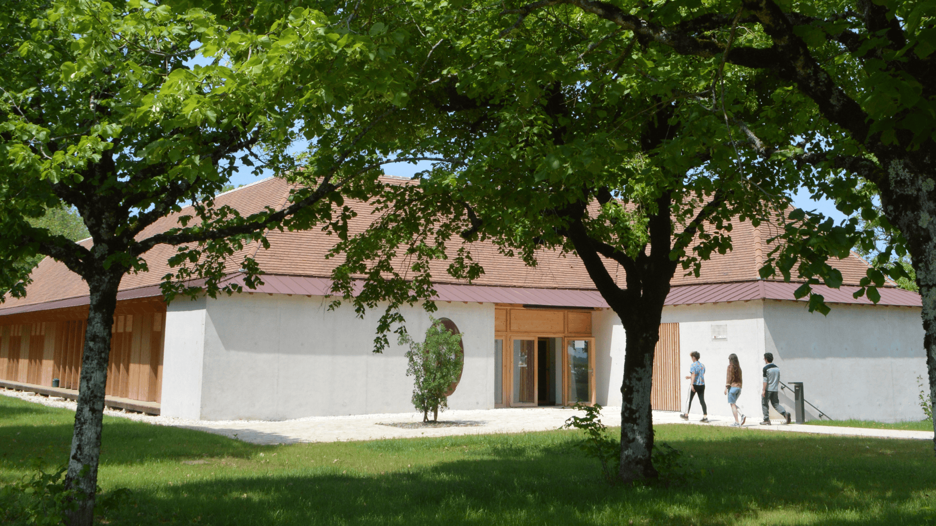
[[[104,274],[102,271],[101,274]],[[101,421],[104,416],[104,389],[108,381],[110,331],[117,306],[117,287],[123,273],[85,278],[91,290],[88,329],[81,358],[78,408],[68,458],[66,488],[82,493],[78,510],[71,516],[72,526],[91,526],[94,522],[97,490],[97,463],[101,454]]]

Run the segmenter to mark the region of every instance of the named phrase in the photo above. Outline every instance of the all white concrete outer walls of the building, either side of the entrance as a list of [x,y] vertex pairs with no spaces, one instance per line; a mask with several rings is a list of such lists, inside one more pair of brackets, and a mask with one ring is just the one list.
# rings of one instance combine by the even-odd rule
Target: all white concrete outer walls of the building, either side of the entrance
[[[405,349],[372,352],[377,319],[358,319],[344,306],[328,311],[322,297],[241,294],[219,300],[178,300],[168,307],[162,412],[203,419],[285,419],[412,411]],[[483,409],[494,403],[494,306],[438,303],[435,317],[461,330],[464,373],[449,405]],[[429,316],[404,310],[421,338]],[[774,353],[786,383],[802,381],[806,398],[835,418],[905,420],[922,417],[916,376],[925,375],[919,309],[836,305],[827,317],[794,301],[748,301],[666,307],[664,323],[680,323],[680,377],[698,351],[707,367],[710,415],[730,415],[724,397],[727,357],[744,373],[740,405],[760,418],[763,354]],[[713,341],[712,325],[727,339]],[[606,309],[592,313],[596,400],[620,405],[626,337]],[[689,381],[680,380],[685,404]],[[792,395],[781,393],[792,410]],[[701,414],[694,402],[692,413]],[[807,407],[808,416],[815,416]]]

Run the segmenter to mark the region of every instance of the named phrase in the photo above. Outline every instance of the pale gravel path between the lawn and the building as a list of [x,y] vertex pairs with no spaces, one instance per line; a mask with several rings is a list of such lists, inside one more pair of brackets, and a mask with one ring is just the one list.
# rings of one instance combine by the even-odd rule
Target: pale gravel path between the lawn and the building
[[[0,389],[0,394],[37,402],[51,407],[75,410],[75,402],[61,398],[47,398],[33,393]],[[176,426],[197,431],[208,431],[237,438],[253,444],[296,444],[302,442],[340,442],[347,440],[377,440],[384,438],[412,438],[420,436],[449,436],[461,434],[491,434],[505,432],[548,431],[558,429],[569,416],[580,413],[573,409],[556,407],[530,407],[510,409],[448,410],[440,419],[448,425],[425,427],[421,413],[392,413],[383,415],[309,416],[294,420],[227,420],[207,421],[147,416],[106,409],[105,415],[119,416],[160,426]],[[602,420],[608,426],[621,425],[621,408],[606,407]],[[729,426],[731,416],[709,416],[710,423],[697,422],[694,415],[688,422],[674,412],[654,411],[654,424],[685,424],[700,426]],[[758,425],[758,417],[748,418],[744,429],[777,432],[807,432],[870,438],[907,438],[932,440],[932,431],[875,430],[840,428],[833,426]],[[740,431],[740,430],[739,430]],[[742,431],[743,432],[743,431]]]

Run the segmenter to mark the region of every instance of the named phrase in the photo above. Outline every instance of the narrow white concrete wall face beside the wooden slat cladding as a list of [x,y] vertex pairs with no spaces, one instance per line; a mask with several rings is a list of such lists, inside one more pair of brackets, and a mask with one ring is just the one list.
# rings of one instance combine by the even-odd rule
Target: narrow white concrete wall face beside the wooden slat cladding
[[163,347],[164,416],[201,416],[202,367],[205,355],[206,300],[176,300],[166,310]]

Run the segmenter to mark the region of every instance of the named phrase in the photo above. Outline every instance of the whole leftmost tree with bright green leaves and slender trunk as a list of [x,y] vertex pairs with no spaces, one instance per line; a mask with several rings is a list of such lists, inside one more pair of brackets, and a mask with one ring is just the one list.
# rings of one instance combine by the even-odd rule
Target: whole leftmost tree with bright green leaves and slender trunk
[[[369,2],[6,1],[0,8],[0,291],[22,296],[38,255],[63,262],[91,291],[80,398],[66,484],[90,524],[110,329],[126,272],[157,244],[178,247],[164,290],[211,296],[227,258],[270,228],[325,226],[344,235],[344,198],[379,192],[382,133],[418,89],[427,55],[404,29],[373,22]],[[196,55],[207,65],[190,66]],[[312,152],[297,170],[288,149]],[[280,209],[250,216],[215,206],[241,161],[301,180]],[[168,231],[148,226],[185,205]],[[43,225],[74,207],[93,244]],[[261,270],[245,258],[247,284]]]

